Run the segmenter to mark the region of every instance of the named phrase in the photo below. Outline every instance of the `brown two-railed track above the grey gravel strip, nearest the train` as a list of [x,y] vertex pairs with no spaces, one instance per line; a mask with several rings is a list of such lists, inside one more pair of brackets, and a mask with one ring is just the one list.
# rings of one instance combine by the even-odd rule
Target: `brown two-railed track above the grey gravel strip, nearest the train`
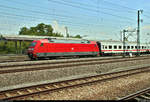
[[[113,59],[88,59],[88,60],[74,60],[74,61],[60,61],[52,62],[52,63],[36,63],[35,64],[25,64],[25,65],[10,65],[8,66],[0,66],[0,74],[6,73],[16,73],[16,72],[26,72],[26,71],[37,71],[37,70],[46,70],[46,69],[56,69],[56,68],[71,68],[74,66],[85,66],[85,65],[95,65],[95,64],[108,64],[108,63],[118,63],[118,62],[125,62],[125,61],[135,61],[135,60],[143,60],[143,59],[150,59],[148,57],[143,58],[114,58]],[[77,63],[78,62],[78,63]],[[42,65],[42,66],[39,66]],[[24,66],[24,67],[23,67]]]

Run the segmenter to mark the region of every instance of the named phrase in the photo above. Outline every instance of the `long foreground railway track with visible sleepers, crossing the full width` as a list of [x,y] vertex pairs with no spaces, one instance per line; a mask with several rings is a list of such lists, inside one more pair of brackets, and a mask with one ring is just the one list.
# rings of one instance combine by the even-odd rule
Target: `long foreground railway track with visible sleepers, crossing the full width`
[[79,79],[72,79],[48,84],[35,85],[30,87],[6,90],[0,92],[1,100],[17,100],[26,99],[28,97],[39,96],[40,94],[48,94],[50,92],[59,91],[67,88],[80,87],[99,82],[105,82],[116,78],[122,78],[134,74],[149,72],[150,66],[139,69],[130,69],[113,73],[105,73]]

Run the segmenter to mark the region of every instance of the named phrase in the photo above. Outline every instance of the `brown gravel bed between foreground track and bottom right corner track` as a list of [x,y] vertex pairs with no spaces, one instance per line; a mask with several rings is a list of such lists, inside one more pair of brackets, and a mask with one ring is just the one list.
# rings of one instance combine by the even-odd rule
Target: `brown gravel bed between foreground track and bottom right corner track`
[[40,94],[27,100],[116,100],[137,90],[150,87],[150,72],[119,78],[112,81],[96,83],[51,92],[49,95]]

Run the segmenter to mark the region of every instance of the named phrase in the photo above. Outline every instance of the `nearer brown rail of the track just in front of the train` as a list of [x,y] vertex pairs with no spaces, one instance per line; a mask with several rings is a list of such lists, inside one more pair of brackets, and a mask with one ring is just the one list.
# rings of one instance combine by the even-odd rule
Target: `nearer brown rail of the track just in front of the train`
[[[143,59],[150,59],[150,58],[143,58]],[[33,68],[20,68],[20,69],[4,69],[0,70],[0,74],[7,74],[7,73],[16,73],[16,72],[27,72],[27,71],[37,71],[37,70],[47,70],[47,69],[58,69],[58,68],[72,68],[72,67],[77,67],[77,66],[85,66],[85,65],[96,65],[96,64],[108,64],[108,63],[118,63],[118,62],[124,62],[124,61],[135,61],[135,60],[143,60],[143,59],[123,59],[123,60],[113,60],[113,61],[106,61],[106,62],[101,62],[101,60],[98,60],[97,62],[86,62],[83,60],[85,63],[72,63],[72,62],[66,62],[66,63],[71,63],[71,64],[64,64],[64,65],[59,65],[56,63],[56,65],[48,65],[48,66],[40,66],[40,67],[33,67]],[[93,61],[93,60],[90,60]],[[95,61],[95,60],[94,60]],[[99,62],[100,61],[100,62]],[[74,61],[73,61],[74,62]],[[82,61],[80,61],[82,62]],[[87,63],[88,62],[88,63]],[[57,65],[58,64],[58,65]]]

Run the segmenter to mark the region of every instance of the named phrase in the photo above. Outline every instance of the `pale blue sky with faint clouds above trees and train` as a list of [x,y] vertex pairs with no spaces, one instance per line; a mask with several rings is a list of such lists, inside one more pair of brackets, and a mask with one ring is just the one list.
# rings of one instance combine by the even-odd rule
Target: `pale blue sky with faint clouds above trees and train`
[[[150,42],[150,0],[0,0],[0,34],[18,34],[21,27],[50,24],[54,32],[85,39],[120,40],[121,31],[137,29],[140,40]],[[130,35],[130,36],[129,36]],[[126,33],[136,41],[136,32]]]

